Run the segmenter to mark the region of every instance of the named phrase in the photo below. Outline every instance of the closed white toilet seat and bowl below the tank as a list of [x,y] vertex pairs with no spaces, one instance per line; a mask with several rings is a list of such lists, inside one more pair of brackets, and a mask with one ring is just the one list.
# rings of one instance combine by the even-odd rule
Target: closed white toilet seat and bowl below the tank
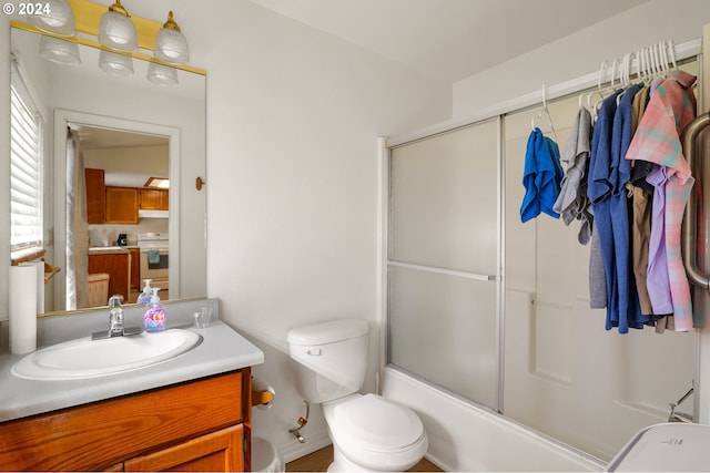
[[362,466],[406,470],[428,449],[414,411],[381,395],[354,394],[326,403],[323,410],[337,448]]

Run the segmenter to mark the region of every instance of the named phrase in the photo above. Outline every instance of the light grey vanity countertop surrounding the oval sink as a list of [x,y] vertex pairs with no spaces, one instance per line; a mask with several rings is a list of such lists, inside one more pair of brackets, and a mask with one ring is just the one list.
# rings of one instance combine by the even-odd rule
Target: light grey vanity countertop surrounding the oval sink
[[[176,307],[173,306],[171,309]],[[182,319],[184,322],[184,317]],[[258,348],[220,320],[213,320],[206,329],[190,328],[190,330],[200,333],[203,341],[176,358],[133,371],[91,379],[37,381],[18,378],[11,373],[11,368],[24,354],[0,354],[0,422],[225,373],[264,362],[264,353]],[[87,332],[87,336],[90,333],[90,331]],[[81,338],[82,335],[75,338]]]

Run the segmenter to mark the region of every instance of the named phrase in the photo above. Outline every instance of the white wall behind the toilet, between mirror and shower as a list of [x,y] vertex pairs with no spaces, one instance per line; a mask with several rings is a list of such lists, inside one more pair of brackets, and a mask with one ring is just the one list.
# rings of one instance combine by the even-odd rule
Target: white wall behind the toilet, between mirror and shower
[[[288,460],[321,446],[326,432],[314,408],[305,445],[287,433],[304,404],[286,331],[337,317],[377,328],[376,138],[448,119],[450,85],[250,2],[222,6],[205,31],[207,292],[266,353],[254,371],[276,402],[254,410],[254,433]],[[229,42],[216,33],[227,27]]]

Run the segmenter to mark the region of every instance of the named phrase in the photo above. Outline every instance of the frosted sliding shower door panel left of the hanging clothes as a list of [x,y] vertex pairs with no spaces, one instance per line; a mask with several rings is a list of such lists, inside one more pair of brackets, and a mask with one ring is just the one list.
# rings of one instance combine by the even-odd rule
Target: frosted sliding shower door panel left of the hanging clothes
[[499,120],[390,150],[388,362],[498,409]]

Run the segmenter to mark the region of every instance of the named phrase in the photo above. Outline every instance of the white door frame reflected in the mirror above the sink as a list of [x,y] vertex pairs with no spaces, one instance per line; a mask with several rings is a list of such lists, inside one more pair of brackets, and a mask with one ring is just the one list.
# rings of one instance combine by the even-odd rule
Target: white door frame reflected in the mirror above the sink
[[[54,110],[54,256],[57,261],[67,260],[67,125],[68,123],[80,123],[97,127],[112,128],[118,131],[134,132],[166,136],[169,140],[169,177],[171,192],[169,195],[169,233],[170,255],[176,258],[170,259],[169,280],[170,290],[180,298],[180,128],[173,126],[158,125],[153,123],[138,122],[134,120],[118,119],[113,116],[97,115],[92,113],[74,112],[70,110]],[[59,204],[59,205],[57,205]],[[57,285],[65,288],[67,274],[59,271]],[[54,307],[64,307],[65,290],[54,291]],[[63,311],[67,311],[64,309]],[[48,312],[53,313],[53,312]]]

